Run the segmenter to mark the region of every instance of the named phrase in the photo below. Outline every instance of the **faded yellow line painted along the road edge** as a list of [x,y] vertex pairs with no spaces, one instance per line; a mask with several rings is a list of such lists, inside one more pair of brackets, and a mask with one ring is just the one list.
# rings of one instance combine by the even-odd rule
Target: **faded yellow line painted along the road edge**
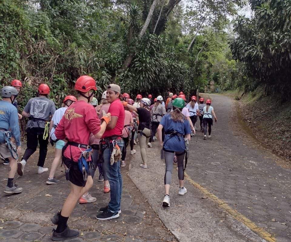
[[275,237],[272,234],[269,234],[267,231],[265,231],[263,228],[258,227],[256,224],[254,224],[251,220],[240,214],[235,209],[232,209],[228,204],[226,204],[224,201],[210,193],[206,188],[202,187],[200,184],[193,181],[189,175],[185,172],[185,178],[196,188],[198,188],[200,191],[202,191],[203,194],[208,196],[212,201],[214,201],[216,204],[218,204],[219,208],[222,208],[227,213],[229,213],[233,218],[236,220],[242,222],[247,227],[249,227],[252,231],[254,231],[256,234],[258,234],[260,237],[262,237],[264,240],[268,242],[276,242]]

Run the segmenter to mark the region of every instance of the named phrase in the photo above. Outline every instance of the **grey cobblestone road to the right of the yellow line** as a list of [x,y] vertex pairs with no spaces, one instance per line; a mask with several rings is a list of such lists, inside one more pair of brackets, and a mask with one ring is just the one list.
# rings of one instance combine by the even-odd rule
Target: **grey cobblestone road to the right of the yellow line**
[[211,139],[203,140],[197,131],[191,140],[187,174],[277,241],[290,242],[290,167],[240,128],[234,102],[211,96],[218,123],[212,126]]

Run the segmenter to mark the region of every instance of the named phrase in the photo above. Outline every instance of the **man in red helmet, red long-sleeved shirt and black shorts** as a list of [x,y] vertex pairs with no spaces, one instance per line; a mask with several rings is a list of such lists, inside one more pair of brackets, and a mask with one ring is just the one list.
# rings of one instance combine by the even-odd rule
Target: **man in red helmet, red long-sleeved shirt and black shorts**
[[92,176],[88,173],[87,181],[78,167],[81,153],[88,149],[89,136],[92,132],[96,138],[101,138],[110,122],[110,113],[100,119],[96,110],[90,104],[97,90],[95,80],[89,76],[81,76],[75,83],[78,91],[78,101],[73,103],[65,112],[55,129],[57,139],[67,142],[63,148],[63,162],[69,168],[66,178],[70,181],[71,192],[68,195],[61,212],[51,218],[57,229],[53,230],[52,240],[66,240],[79,236],[79,232],[69,229],[67,221],[79,198],[93,185]]

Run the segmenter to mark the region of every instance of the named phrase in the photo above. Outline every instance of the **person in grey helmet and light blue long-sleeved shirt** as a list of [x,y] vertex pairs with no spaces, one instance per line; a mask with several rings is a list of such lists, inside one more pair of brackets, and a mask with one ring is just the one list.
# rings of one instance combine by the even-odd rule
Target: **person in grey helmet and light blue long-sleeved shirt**
[[[12,104],[18,91],[15,87],[6,86],[1,89],[0,94],[2,97],[0,101],[0,154],[4,159],[9,159],[8,182],[4,192],[8,194],[20,193],[22,188],[13,183],[18,155],[21,151],[18,112]],[[12,137],[15,139],[16,147],[10,141]]]

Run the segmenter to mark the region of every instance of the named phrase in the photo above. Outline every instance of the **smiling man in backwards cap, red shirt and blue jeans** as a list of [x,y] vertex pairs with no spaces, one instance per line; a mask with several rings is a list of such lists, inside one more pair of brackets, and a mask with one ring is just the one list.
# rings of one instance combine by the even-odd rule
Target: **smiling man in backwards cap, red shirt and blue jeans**
[[99,220],[117,218],[121,213],[122,175],[120,172],[120,159],[115,160],[113,164],[110,163],[113,149],[119,148],[121,151],[124,146],[122,130],[124,127],[125,111],[119,96],[120,87],[116,84],[110,84],[107,87],[106,98],[110,103],[108,112],[111,113],[111,121],[102,136],[101,149],[104,159],[103,169],[109,180],[111,191],[108,206],[100,208],[99,212],[101,213],[96,215],[96,218]]

